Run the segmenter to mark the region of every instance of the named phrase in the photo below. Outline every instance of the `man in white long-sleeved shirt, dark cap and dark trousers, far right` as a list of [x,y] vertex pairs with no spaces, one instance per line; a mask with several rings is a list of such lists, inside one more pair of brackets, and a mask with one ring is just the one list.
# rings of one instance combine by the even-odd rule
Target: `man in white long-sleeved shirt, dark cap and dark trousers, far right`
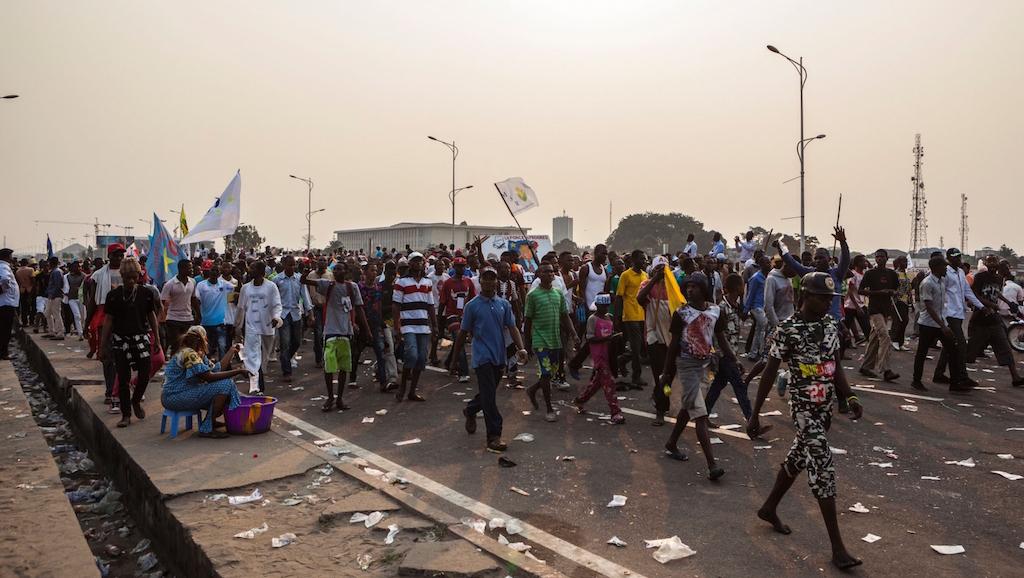
[[[970,302],[975,311],[983,309],[985,305],[974,294],[974,291],[971,290],[971,286],[967,282],[967,276],[961,266],[964,264],[964,261],[959,249],[955,247],[947,249],[946,262],[949,264],[946,266],[946,277],[943,280],[945,282],[946,301],[942,309],[942,316],[946,318],[946,324],[953,332],[953,340],[956,342],[956,347],[952,352],[947,352],[945,347],[942,348],[942,353],[939,354],[939,361],[935,365],[935,374],[932,376],[932,381],[934,383],[966,383],[974,387],[978,385],[978,382],[967,375],[967,338],[964,336],[964,319],[967,317],[965,300]],[[949,366],[949,377],[945,375],[946,365]]]

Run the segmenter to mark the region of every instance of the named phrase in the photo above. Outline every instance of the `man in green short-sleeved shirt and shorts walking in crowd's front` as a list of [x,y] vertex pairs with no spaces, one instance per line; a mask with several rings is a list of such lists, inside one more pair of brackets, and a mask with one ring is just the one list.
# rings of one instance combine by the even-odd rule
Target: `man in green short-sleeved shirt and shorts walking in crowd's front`
[[537,403],[537,390],[543,389],[544,404],[547,406],[548,421],[557,421],[554,408],[551,407],[551,376],[558,368],[558,360],[562,355],[561,330],[569,335],[568,344],[575,346],[579,341],[568,307],[562,292],[552,287],[555,273],[550,264],[543,264],[537,271],[541,285],[526,295],[526,350],[537,356],[541,378],[528,388],[526,395],[535,410],[541,407]]

